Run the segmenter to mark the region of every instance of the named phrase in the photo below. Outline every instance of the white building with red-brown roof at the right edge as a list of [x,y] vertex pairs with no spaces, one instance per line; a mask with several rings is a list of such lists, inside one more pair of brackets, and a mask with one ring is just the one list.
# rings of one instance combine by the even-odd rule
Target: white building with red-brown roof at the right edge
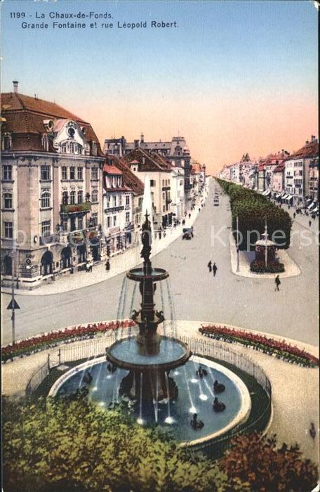
[[293,205],[304,205],[309,195],[309,164],[319,155],[318,140],[312,135],[311,141],[287,159],[285,171],[286,200]]

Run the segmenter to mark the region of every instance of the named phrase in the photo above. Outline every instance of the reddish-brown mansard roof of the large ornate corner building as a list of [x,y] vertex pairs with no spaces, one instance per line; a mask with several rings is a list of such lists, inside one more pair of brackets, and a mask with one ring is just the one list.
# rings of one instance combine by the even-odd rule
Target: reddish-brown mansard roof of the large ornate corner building
[[[65,110],[60,105],[32,98],[24,94],[9,92],[1,94],[1,112],[6,122],[2,125],[2,131],[13,134],[11,151],[39,150],[44,152],[41,145],[41,137],[48,133],[44,125],[44,119],[72,119],[86,129],[88,142],[95,141],[97,155],[102,156],[98,137],[95,135],[91,124],[85,122],[79,116]],[[57,152],[52,143],[49,144],[49,152]]]

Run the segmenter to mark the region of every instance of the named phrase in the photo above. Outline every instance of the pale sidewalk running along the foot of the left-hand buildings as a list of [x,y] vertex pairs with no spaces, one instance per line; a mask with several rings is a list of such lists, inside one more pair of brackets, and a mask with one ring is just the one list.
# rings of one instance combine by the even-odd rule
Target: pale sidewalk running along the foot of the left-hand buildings
[[[206,188],[204,190],[204,194],[199,196],[198,202],[196,203],[194,210],[190,212],[191,217],[185,217],[185,225],[176,226],[171,228],[166,228],[166,235],[162,234],[161,239],[157,237],[152,243],[152,254],[151,258],[155,257],[156,254],[159,254],[162,250],[166,249],[173,241],[180,238],[182,235],[182,229],[185,227],[191,227],[196,221],[199,215],[199,202],[204,200],[206,202],[206,198],[208,197],[208,183],[206,184]],[[50,294],[61,294],[62,292],[69,292],[70,290],[81,289],[83,287],[88,287],[89,285],[93,285],[96,283],[104,282],[109,278],[115,277],[120,273],[124,273],[129,270],[129,268],[133,268],[142,264],[142,259],[140,257],[140,251],[142,249],[142,245],[135,245],[133,247],[128,248],[128,250],[116,254],[116,256],[110,259],[110,270],[105,270],[104,262],[93,266],[92,272],[86,271],[75,271],[73,274],[68,274],[68,276],[64,276],[59,280],[51,280],[48,283],[44,283],[37,287],[34,290],[16,290],[15,295],[50,295]],[[1,287],[1,292],[6,294],[11,294],[11,287]]]

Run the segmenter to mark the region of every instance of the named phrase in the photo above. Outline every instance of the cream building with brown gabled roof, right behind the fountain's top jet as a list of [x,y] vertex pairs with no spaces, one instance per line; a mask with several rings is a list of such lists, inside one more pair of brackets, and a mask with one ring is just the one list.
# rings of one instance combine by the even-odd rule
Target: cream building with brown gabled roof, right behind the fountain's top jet
[[166,162],[156,154],[145,152],[142,148],[131,150],[122,157],[121,162],[126,164],[141,181],[144,182],[145,176],[149,176],[154,226],[155,228],[170,226],[173,221],[170,162]]

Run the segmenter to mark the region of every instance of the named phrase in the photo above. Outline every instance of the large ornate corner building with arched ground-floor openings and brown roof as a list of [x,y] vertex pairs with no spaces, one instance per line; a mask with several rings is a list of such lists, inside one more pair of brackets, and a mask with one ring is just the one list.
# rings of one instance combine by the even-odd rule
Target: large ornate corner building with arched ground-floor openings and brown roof
[[[18,93],[1,94],[2,283],[20,287],[105,256],[101,240],[104,156],[91,124]],[[15,271],[12,272],[12,252]]]

